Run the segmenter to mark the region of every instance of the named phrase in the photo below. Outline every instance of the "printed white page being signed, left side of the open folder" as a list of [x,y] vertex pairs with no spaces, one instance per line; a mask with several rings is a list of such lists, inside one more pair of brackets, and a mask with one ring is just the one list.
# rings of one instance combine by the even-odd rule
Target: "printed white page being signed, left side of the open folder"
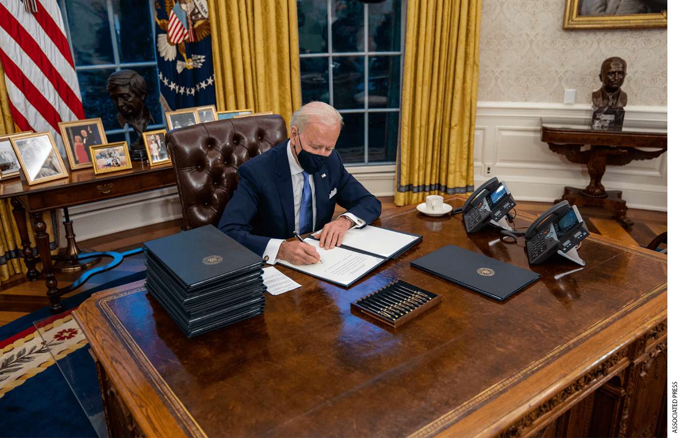
[[360,277],[386,260],[382,257],[374,257],[374,255],[358,253],[342,247],[320,248],[320,242],[313,238],[306,238],[306,243],[315,247],[323,263],[295,265],[286,262],[286,260],[278,260],[277,262],[344,287],[355,283]]

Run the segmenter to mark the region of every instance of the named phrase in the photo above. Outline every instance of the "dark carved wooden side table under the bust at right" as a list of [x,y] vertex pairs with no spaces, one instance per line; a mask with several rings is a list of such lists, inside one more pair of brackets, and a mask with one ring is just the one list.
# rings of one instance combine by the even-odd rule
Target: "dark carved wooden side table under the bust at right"
[[[623,131],[593,131],[587,126],[542,121],[542,141],[550,151],[563,154],[569,161],[586,164],[590,183],[584,189],[564,187],[563,196],[554,202],[567,200],[571,205],[599,206],[610,210],[625,227],[633,225],[625,217],[627,205],[623,192],[606,190],[602,176],[606,166],[625,166],[636,159],[653,159],[668,150],[668,133],[662,129],[625,129]],[[582,146],[591,148],[582,151]],[[657,148],[641,151],[638,148]]]

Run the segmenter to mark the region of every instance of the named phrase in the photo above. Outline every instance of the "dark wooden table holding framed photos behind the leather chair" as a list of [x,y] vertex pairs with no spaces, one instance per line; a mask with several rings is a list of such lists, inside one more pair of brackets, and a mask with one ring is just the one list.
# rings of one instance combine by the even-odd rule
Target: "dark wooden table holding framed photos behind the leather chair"
[[[50,181],[44,184],[29,185],[23,174],[21,178],[0,181],[0,199],[11,198],[14,207],[12,214],[16,220],[24,261],[29,272],[27,277],[34,281],[40,275],[35,269],[37,262],[42,262],[50,298],[50,311],[61,313],[63,304],[59,301],[61,293],[57,288],[57,280],[50,257],[50,237],[46,232],[46,224],[42,213],[55,208],[87,204],[119,196],[132,195],[143,191],[170,187],[177,183],[173,164],[151,167],[146,161],[132,161],[131,170],[95,175],[92,169],[72,170],[68,178]],[[33,218],[35,246],[38,247],[40,260],[33,257],[31,241],[26,228],[26,211],[28,208]]]

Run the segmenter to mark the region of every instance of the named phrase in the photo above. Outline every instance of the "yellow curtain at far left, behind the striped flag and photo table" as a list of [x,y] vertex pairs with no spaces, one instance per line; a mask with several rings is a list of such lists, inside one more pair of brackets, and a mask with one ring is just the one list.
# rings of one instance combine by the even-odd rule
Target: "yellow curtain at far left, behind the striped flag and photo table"
[[[0,63],[0,136],[5,134],[14,134],[18,129],[14,125],[14,119],[12,119],[12,114],[10,113],[10,97],[7,92],[7,86],[5,85],[5,71],[3,70],[2,63]],[[16,228],[16,221],[14,221],[14,216],[12,215],[12,205],[10,205],[9,199],[0,200],[0,283],[7,281],[12,275],[18,272],[27,272],[26,265],[24,264],[22,248],[21,248],[21,238],[19,237],[19,231]],[[33,253],[38,254],[35,251],[35,240],[33,239],[33,225],[31,225],[31,219],[26,215],[27,229],[29,230],[29,238],[31,240],[31,248]],[[47,233],[50,236],[50,250],[53,255],[56,255],[59,251],[59,240],[55,238],[56,229],[54,224],[56,223],[56,215],[53,211],[46,211],[43,213],[43,220],[47,226]],[[58,235],[58,234],[57,234]],[[36,268],[40,269],[42,264],[38,264]]]

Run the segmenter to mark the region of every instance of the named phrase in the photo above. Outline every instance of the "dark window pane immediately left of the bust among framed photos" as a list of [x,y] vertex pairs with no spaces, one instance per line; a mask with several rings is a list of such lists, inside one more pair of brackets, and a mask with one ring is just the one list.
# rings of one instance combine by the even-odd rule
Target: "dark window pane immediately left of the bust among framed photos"
[[121,129],[116,120],[119,113],[109,93],[106,91],[106,78],[114,72],[114,69],[81,70],[78,72],[78,85],[80,96],[83,97],[83,110],[85,117],[91,119],[102,117],[104,130]]

